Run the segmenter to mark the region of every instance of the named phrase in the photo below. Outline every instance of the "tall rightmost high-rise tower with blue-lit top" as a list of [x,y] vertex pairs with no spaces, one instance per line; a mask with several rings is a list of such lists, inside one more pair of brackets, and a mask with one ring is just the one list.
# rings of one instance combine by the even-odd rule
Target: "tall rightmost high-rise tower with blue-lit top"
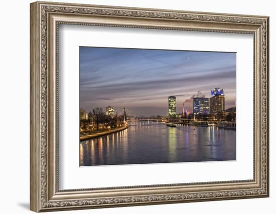
[[222,88],[211,90],[210,113],[215,119],[225,120],[225,100]]

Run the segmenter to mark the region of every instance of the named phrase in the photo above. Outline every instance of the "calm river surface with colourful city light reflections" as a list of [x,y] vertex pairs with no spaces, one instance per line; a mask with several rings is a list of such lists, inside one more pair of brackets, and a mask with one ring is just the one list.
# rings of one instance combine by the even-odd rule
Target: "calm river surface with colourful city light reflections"
[[236,159],[236,132],[216,127],[131,122],[123,131],[80,142],[80,165]]

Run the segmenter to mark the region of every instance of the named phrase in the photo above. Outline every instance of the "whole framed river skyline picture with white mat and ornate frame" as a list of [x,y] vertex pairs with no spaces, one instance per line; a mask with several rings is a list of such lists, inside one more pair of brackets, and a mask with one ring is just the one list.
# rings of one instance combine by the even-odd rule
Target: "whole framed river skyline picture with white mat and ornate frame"
[[31,210],[269,196],[268,17],[31,4]]

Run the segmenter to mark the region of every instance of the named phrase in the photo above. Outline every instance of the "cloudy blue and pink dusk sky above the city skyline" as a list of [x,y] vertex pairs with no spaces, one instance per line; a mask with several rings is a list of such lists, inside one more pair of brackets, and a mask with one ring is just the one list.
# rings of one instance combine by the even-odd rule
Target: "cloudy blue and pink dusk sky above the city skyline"
[[[236,100],[236,54],[223,52],[80,47],[80,108],[113,106],[133,116],[166,116],[168,97],[177,113],[192,96],[223,88],[225,109]],[[129,115],[129,111],[127,111]]]

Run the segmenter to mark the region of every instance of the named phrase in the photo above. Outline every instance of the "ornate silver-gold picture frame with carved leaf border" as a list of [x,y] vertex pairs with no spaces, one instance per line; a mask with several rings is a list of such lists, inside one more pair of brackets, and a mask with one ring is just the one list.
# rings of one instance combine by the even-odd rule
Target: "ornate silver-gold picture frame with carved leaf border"
[[[31,210],[56,211],[269,196],[269,18],[35,2],[31,4]],[[253,35],[253,179],[59,189],[59,25]]]

